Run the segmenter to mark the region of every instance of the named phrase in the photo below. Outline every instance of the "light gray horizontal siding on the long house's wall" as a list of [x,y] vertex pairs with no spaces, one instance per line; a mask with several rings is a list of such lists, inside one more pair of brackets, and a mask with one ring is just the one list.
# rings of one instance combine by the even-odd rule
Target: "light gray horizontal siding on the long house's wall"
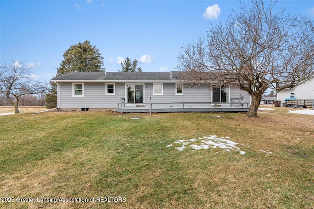
[[[59,83],[59,85],[61,108],[117,108],[117,104],[121,102],[121,98],[126,97],[125,83],[115,83],[115,95],[105,94],[105,83],[84,83],[83,97],[72,96],[72,83]],[[164,83],[163,95],[153,95],[153,83],[145,83],[144,103],[149,103],[150,93],[152,93],[152,103],[212,101],[212,92],[208,86],[200,88],[188,88],[184,86],[183,95],[176,95],[175,91],[175,83]],[[241,94],[244,94],[244,102],[250,102],[250,96],[238,88],[230,89],[229,101],[230,98],[240,98]]]

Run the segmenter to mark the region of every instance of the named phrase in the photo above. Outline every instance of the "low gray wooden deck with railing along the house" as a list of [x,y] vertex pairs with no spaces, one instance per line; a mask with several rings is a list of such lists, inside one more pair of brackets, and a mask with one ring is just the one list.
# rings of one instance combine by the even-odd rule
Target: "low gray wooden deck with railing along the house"
[[169,112],[247,112],[248,103],[178,102],[178,103],[118,103],[121,113],[169,113]]

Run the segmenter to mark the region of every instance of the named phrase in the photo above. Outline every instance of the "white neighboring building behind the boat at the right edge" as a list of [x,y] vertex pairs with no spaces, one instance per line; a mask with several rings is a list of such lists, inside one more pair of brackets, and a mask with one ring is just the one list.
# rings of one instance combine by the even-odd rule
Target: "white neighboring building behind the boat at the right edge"
[[283,103],[286,98],[314,99],[314,76],[299,83],[294,88],[287,88],[278,92],[277,100]]

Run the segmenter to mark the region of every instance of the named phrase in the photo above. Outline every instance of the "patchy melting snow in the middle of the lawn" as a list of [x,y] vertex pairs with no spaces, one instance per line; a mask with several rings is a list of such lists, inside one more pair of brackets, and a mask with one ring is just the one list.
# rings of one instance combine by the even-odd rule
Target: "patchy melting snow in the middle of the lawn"
[[[200,149],[209,149],[209,148],[220,148],[223,149],[224,151],[236,151],[239,152],[241,155],[244,155],[246,152],[241,151],[241,149],[235,145],[237,145],[238,143],[234,142],[234,141],[230,141],[227,139],[229,139],[230,137],[226,136],[226,137],[217,137],[216,135],[210,135],[209,137],[199,137],[199,138],[193,138],[193,139],[185,139],[185,140],[176,140],[175,142],[173,142],[174,144],[182,144],[181,147],[176,147],[177,150],[179,151],[183,151],[186,148],[186,145],[190,144],[191,142],[198,142],[201,143],[200,145],[196,145],[196,144],[190,144],[190,147],[194,150],[200,150]],[[171,147],[172,144],[167,145],[166,147]]]

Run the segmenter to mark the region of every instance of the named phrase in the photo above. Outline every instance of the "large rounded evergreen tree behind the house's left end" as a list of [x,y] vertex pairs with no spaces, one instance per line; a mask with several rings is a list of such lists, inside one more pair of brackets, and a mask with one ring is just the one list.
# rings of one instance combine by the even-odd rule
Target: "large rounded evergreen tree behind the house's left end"
[[[63,54],[64,60],[61,62],[60,67],[57,68],[55,77],[64,75],[70,72],[99,72],[104,68],[103,59],[99,49],[93,46],[89,41],[78,43],[70,46]],[[51,88],[46,98],[46,106],[48,108],[57,107],[57,85],[50,83]]]

